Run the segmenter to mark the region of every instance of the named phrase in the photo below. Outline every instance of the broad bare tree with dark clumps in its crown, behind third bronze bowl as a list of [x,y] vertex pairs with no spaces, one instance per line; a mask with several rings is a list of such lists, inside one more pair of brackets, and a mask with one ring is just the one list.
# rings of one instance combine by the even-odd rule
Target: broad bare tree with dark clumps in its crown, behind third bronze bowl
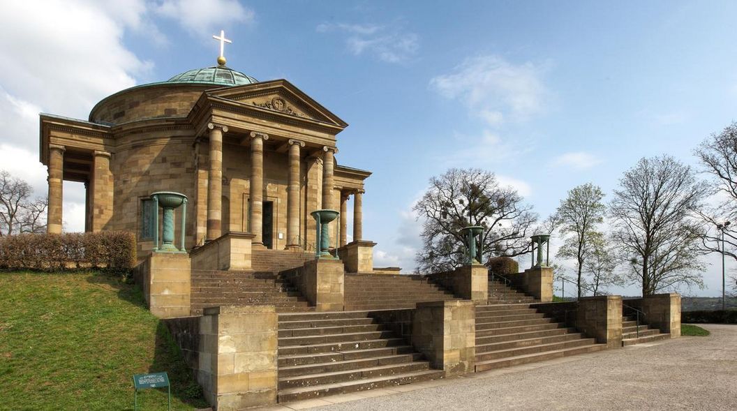
[[511,187],[501,187],[494,173],[450,169],[430,179],[430,189],[413,207],[423,219],[419,270],[453,270],[463,264],[461,228],[481,225],[481,253],[518,256],[529,250],[528,233],[537,221],[531,205]]

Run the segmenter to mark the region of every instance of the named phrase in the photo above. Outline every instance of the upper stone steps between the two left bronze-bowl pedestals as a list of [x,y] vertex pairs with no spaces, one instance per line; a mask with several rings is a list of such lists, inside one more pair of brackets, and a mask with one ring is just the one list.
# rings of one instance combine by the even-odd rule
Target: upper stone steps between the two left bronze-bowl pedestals
[[253,271],[192,270],[191,315],[209,306],[276,306],[277,312],[311,311],[307,299],[281,275]]

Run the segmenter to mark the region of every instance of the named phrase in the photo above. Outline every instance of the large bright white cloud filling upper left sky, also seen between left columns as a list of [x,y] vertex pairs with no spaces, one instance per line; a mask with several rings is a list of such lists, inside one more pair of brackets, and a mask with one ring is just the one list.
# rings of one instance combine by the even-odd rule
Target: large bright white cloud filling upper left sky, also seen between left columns
[[[0,168],[43,196],[46,167],[38,161],[38,113],[86,119],[100,99],[136,84],[136,75],[151,64],[130,52],[123,35],[150,29],[147,3],[7,1],[2,8]],[[81,230],[83,186],[66,186],[66,229]]]

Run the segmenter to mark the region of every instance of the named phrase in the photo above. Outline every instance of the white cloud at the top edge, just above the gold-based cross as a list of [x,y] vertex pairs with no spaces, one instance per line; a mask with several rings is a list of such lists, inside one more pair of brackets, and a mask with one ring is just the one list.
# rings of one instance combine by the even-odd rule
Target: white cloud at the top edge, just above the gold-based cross
[[254,11],[237,0],[164,0],[154,10],[199,36],[212,35],[223,25],[254,22]]

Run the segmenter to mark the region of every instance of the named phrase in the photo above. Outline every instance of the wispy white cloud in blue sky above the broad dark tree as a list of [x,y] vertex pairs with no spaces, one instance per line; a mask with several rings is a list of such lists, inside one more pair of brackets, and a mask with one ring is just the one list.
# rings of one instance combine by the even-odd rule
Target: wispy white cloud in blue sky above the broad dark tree
[[528,119],[545,111],[548,94],[540,79],[542,68],[532,63],[514,65],[495,55],[469,58],[451,74],[430,80],[430,87],[459,100],[472,115],[490,125],[511,118]]

